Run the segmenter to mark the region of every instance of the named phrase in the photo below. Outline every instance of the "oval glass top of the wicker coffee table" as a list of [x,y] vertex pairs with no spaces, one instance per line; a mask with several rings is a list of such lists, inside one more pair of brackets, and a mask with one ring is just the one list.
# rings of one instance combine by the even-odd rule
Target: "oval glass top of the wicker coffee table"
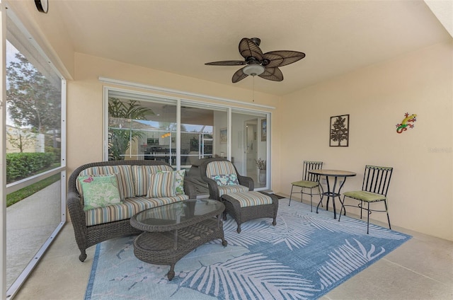
[[134,228],[142,231],[170,231],[221,214],[224,204],[217,200],[194,199],[153,207],[130,219]]

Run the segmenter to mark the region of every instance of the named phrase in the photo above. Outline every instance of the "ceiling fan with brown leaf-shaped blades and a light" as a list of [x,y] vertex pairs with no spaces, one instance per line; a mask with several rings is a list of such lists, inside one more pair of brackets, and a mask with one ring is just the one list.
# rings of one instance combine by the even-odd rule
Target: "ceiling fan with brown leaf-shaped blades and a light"
[[263,54],[260,50],[261,40],[258,37],[243,37],[239,42],[239,53],[245,60],[224,60],[222,62],[207,62],[208,66],[243,66],[234,73],[231,81],[236,83],[248,75],[260,76],[263,79],[282,81],[283,74],[278,67],[292,64],[305,57],[305,53],[289,50],[271,51]]

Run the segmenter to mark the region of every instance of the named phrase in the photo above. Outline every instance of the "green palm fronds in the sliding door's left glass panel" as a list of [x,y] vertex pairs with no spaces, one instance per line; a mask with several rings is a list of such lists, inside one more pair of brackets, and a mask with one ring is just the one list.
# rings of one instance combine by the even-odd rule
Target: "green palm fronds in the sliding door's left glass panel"
[[[108,129],[108,160],[120,161],[124,159],[130,141],[143,135],[143,132],[132,130],[132,121],[147,120],[146,115],[154,115],[154,112],[139,105],[135,100],[129,100],[127,103],[118,98],[109,98],[108,115],[110,123],[117,123],[110,124]],[[116,118],[116,120],[111,118]]]

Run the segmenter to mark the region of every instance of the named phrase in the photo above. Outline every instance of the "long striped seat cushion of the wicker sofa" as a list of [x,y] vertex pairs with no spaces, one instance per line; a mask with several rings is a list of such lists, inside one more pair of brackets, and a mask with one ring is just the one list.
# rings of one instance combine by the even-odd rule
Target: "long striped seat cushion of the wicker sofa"
[[188,195],[177,195],[175,197],[146,198],[134,197],[126,198],[121,203],[99,207],[85,212],[86,226],[104,224],[113,221],[130,219],[134,214],[142,212],[144,209],[158,207],[173,202],[188,200]]

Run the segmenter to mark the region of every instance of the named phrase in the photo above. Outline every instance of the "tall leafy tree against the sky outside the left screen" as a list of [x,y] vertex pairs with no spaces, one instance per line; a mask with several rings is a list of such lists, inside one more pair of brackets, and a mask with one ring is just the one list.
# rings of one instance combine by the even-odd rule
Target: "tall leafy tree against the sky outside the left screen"
[[[13,148],[20,152],[60,151],[61,91],[19,52],[6,67],[6,100],[8,117],[16,127],[14,134],[7,134]],[[46,147],[31,149],[33,135],[43,135]]]

